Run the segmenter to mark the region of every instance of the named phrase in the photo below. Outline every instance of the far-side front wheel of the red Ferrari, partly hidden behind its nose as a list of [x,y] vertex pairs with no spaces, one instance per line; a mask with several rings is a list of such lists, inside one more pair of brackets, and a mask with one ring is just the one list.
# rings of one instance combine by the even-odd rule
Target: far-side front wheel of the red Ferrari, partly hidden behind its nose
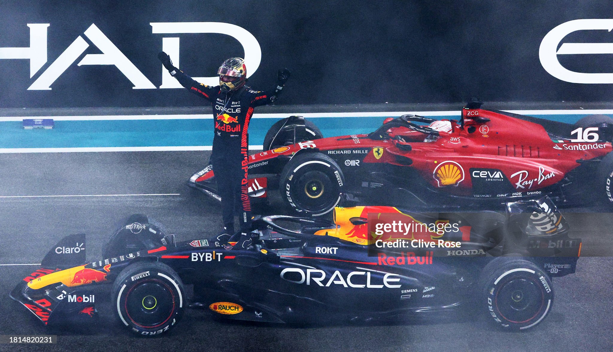
[[272,150],[274,148],[304,142],[305,140],[320,139],[324,137],[314,123],[306,119],[303,121],[305,128],[295,129],[295,141],[293,128],[295,123],[292,123],[292,117],[286,117],[276,121],[275,124],[268,129],[266,136],[264,136],[264,150]]

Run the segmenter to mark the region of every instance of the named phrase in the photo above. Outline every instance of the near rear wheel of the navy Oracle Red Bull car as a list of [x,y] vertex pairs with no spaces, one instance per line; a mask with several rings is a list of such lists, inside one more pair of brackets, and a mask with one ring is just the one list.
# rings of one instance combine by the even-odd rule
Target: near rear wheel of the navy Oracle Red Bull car
[[549,275],[520,258],[493,259],[482,271],[478,289],[478,309],[493,323],[511,330],[541,323],[554,303]]

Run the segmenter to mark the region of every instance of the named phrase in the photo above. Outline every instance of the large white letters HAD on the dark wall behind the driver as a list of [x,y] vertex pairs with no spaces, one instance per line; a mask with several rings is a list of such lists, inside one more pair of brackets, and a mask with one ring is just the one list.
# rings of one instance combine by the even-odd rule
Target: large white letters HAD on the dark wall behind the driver
[[[260,66],[262,49],[256,37],[246,29],[222,22],[151,22],[152,34],[173,34],[162,36],[162,51],[168,53],[176,67],[179,66],[179,39],[178,34],[186,33],[219,33],[234,37],[243,46],[245,51],[245,65],[249,67],[247,77],[252,75]],[[0,59],[28,59],[30,61],[30,78],[34,77],[42,67],[47,64],[47,28],[50,23],[28,23],[30,28],[29,47],[0,48]],[[92,23],[83,32],[85,38],[78,35],[61,55],[34,80],[28,90],[51,90],[51,85],[59,76],[77,62],[82,65],[110,65],[115,66],[132,82],[133,89],[156,89],[149,78],[124,55],[104,33]],[[92,48],[95,47],[95,48]],[[86,53],[89,51],[91,53]],[[156,52],[158,50],[156,49]],[[86,53],[85,55],[83,55]],[[150,53],[154,56],[154,53]],[[177,80],[172,78],[166,69],[162,69],[162,85],[159,88],[183,88]],[[194,80],[205,85],[218,85],[219,77],[194,77]]]

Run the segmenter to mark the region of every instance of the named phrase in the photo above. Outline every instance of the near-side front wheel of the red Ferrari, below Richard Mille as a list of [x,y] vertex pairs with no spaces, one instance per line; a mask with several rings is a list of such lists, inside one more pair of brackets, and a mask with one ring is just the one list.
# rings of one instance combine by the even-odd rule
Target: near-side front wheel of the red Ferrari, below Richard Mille
[[345,177],[329,156],[316,152],[295,155],[283,168],[281,199],[301,216],[324,215],[338,204]]

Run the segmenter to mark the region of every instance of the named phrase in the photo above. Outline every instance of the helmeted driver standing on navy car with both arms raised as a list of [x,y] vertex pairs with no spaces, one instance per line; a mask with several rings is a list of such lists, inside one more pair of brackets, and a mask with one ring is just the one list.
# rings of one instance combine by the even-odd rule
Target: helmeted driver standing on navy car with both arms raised
[[[224,229],[217,239],[220,242],[230,242],[230,237],[234,237],[232,236],[234,212],[238,208],[240,232],[237,232],[232,241],[241,242],[242,247],[249,247],[251,245],[251,204],[247,194],[249,120],[254,107],[276,101],[290,72],[287,69],[279,70],[274,90],[256,91],[245,85],[247,72],[243,59],[229,58],[221,64],[217,72],[219,85],[208,86],[196,82],[173,66],[170,56],[166,53],[159,53],[158,58],[170,75],[177,78],[182,86],[191,93],[207,99],[213,105],[215,137],[213,137],[211,164],[214,167],[215,180],[221,196],[224,221]],[[241,237],[237,238],[239,233]]]

